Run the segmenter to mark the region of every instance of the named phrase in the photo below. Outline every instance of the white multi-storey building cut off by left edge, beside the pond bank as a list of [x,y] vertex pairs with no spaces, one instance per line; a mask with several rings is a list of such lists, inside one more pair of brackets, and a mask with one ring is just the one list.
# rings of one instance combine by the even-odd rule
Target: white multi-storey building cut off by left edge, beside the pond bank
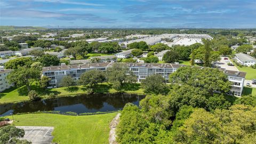
[[9,84],[6,77],[11,73],[11,69],[0,69],[0,92],[9,89],[13,84]]

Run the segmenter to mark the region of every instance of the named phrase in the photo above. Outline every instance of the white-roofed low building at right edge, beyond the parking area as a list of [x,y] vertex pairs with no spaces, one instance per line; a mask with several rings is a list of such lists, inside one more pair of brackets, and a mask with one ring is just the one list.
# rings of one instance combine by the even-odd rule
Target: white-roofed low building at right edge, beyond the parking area
[[244,53],[236,53],[234,59],[243,66],[252,66],[256,63],[255,58]]

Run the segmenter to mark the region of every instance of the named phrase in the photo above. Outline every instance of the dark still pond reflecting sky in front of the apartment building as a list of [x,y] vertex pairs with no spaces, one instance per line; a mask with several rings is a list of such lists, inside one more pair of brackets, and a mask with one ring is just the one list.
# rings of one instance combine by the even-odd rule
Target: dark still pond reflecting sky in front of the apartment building
[[145,98],[144,95],[116,93],[89,94],[32,102],[6,103],[0,105],[0,116],[35,111],[60,111],[60,113],[71,111],[77,114],[115,111],[123,109],[125,104],[129,102],[138,106],[139,101],[143,98]]

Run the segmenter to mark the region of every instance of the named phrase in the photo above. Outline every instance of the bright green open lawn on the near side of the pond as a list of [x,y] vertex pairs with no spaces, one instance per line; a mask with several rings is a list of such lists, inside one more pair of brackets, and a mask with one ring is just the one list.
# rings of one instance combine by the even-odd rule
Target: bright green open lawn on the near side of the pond
[[[53,126],[53,142],[108,143],[109,123],[116,113],[66,116],[58,114],[14,115],[16,126]],[[12,117],[9,117],[12,119]]]

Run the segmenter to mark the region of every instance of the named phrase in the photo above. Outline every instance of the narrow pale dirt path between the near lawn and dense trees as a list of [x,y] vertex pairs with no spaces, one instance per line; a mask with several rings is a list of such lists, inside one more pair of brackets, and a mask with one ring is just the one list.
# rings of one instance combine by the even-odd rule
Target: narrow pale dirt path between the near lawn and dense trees
[[116,126],[119,123],[120,113],[116,115],[116,117],[111,121],[109,124],[110,132],[109,132],[109,138],[108,141],[110,144],[117,144],[116,142]]

